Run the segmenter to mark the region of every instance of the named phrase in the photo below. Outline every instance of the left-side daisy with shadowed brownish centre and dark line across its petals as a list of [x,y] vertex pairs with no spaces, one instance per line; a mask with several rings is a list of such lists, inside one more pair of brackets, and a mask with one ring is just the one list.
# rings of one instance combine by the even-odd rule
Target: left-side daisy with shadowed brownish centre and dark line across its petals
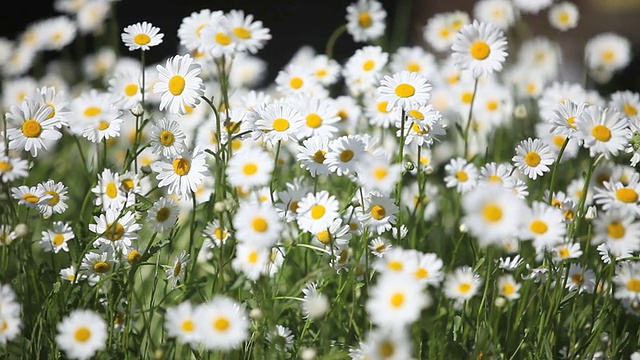
[[98,235],[93,246],[110,253],[128,254],[132,241],[138,239],[136,232],[142,228],[131,211],[121,215],[119,210],[106,210],[93,219],[95,224],[89,224],[89,231]]

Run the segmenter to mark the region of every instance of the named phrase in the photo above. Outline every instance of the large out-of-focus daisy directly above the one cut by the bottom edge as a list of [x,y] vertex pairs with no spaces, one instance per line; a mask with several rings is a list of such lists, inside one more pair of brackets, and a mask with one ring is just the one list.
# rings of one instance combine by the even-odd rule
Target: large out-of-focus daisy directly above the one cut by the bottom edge
[[370,289],[365,309],[373,324],[400,329],[418,320],[431,302],[413,277],[386,273]]

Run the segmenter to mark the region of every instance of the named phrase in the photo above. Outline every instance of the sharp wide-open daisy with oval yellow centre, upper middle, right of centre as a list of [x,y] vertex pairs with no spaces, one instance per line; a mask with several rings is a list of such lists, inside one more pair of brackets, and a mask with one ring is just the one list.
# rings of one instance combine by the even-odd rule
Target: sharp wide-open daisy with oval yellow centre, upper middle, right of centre
[[378,101],[387,102],[387,110],[400,107],[411,110],[427,105],[431,98],[431,84],[417,72],[402,70],[385,75],[378,87]]

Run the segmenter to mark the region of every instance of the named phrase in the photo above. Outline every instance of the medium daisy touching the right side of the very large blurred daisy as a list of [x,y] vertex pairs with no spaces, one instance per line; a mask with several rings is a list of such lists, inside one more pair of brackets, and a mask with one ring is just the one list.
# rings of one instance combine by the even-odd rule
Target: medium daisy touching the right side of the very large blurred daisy
[[551,250],[562,243],[567,231],[562,212],[541,201],[531,204],[531,211],[525,213],[522,222],[521,239],[533,240],[533,246],[538,250]]

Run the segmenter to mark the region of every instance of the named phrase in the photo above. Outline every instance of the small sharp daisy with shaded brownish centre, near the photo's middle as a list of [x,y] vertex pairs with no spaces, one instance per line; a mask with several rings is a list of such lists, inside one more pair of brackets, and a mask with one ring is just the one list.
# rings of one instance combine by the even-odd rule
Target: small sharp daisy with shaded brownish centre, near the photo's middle
[[364,204],[358,208],[356,215],[362,226],[381,235],[396,224],[398,211],[398,206],[389,195],[372,191],[365,197]]

